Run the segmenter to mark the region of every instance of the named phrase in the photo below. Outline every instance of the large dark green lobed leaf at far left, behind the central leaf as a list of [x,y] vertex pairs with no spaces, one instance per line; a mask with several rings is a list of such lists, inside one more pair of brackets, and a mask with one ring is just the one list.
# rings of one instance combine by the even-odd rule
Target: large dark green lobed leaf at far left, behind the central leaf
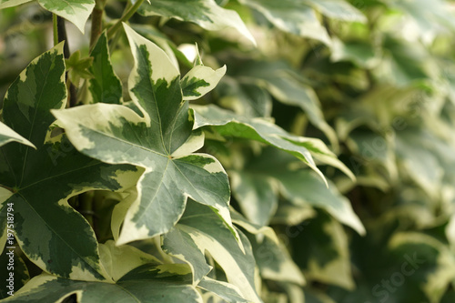
[[0,209],[1,234],[6,212],[13,213],[15,238],[38,267],[64,278],[103,279],[95,234],[67,199],[96,188],[130,187],[135,177],[128,172],[136,168],[110,166],[85,157],[65,136],[45,143],[54,121],[50,109],[65,104],[65,62],[60,44],[27,66],[5,96],[5,125],[33,143],[36,150],[17,143],[0,148],[0,184],[12,192]]

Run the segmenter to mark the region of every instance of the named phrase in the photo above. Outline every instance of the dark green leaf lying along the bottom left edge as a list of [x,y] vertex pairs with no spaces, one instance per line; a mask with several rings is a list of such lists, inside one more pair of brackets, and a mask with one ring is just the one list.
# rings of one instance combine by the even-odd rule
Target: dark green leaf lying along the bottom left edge
[[116,284],[56,278],[41,274],[32,278],[14,297],[5,302],[56,302],[76,294],[77,302],[202,303],[197,289],[187,285],[184,275],[176,274],[179,265],[141,267],[129,272]]

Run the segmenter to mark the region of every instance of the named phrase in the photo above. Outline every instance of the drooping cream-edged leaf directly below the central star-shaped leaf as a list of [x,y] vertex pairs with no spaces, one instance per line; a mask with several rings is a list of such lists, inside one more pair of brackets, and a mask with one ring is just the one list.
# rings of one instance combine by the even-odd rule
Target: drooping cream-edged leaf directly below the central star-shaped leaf
[[243,247],[208,207],[188,203],[184,216],[164,236],[163,248],[167,253],[187,262],[193,270],[193,280],[199,281],[210,269],[204,258],[210,253],[226,273],[227,281],[235,285],[244,298],[261,302],[255,289],[255,260],[248,238],[241,232]]

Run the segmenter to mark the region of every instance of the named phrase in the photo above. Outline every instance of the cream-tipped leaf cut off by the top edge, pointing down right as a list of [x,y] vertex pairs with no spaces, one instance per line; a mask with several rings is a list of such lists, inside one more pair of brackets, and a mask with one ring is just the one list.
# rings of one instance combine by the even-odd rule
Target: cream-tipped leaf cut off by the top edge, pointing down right
[[255,38],[237,12],[222,8],[214,0],[154,0],[140,7],[142,15],[162,15],[195,23],[209,31],[235,28],[256,45]]

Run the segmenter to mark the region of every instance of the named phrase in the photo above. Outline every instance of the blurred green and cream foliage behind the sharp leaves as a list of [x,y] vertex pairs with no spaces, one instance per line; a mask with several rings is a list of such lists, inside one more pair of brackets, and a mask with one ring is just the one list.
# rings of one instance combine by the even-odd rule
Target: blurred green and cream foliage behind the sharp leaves
[[[278,234],[280,246],[248,234],[264,301],[453,302],[455,3],[216,2],[238,12],[257,45],[232,28],[176,17],[165,0],[145,3],[130,24],[182,71],[192,66],[195,43],[207,66],[227,65],[198,104],[320,138],[356,176],[322,167],[327,189],[283,152],[207,134],[204,148],[227,169],[232,205]],[[107,1],[106,24],[125,5]],[[66,27],[70,50],[88,56],[88,34]],[[131,55],[126,37],[117,39],[112,62],[126,83]],[[0,11],[0,99],[51,45],[52,15],[35,2]],[[74,74],[84,79],[84,68]],[[78,98],[84,102],[82,89]],[[361,224],[339,207],[349,204]]]

